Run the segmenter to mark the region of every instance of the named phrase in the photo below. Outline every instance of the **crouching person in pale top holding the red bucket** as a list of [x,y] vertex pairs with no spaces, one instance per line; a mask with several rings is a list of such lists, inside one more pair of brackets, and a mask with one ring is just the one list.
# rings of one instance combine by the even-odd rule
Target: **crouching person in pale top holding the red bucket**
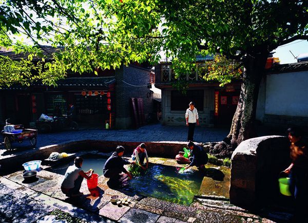
[[61,184],[61,191],[68,197],[83,195],[83,193],[79,191],[81,188],[81,183],[84,178],[90,179],[93,174],[93,170],[84,172],[81,169],[82,162],[82,157],[76,157],[74,164],[69,166],[65,172],[64,180]]

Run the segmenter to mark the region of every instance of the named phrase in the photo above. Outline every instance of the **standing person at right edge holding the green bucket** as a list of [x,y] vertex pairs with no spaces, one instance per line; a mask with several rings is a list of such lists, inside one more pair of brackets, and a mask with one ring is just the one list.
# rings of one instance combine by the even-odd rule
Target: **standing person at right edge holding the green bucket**
[[284,173],[289,174],[290,192],[295,198],[294,222],[308,222],[308,147],[299,128],[288,128],[287,133],[292,163]]

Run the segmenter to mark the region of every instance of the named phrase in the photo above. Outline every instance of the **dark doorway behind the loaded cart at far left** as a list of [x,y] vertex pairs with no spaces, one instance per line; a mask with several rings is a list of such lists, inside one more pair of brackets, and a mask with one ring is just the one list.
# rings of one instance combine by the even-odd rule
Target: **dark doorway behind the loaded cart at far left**
[[31,120],[31,100],[30,95],[17,95],[16,103],[16,123],[23,124],[25,127],[29,127]]

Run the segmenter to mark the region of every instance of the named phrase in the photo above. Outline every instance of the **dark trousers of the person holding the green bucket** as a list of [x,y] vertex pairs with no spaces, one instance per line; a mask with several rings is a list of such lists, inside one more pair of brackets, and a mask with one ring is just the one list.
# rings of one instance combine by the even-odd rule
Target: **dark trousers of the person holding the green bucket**
[[295,212],[293,222],[308,222],[308,172],[293,166],[290,173],[290,192],[295,198]]

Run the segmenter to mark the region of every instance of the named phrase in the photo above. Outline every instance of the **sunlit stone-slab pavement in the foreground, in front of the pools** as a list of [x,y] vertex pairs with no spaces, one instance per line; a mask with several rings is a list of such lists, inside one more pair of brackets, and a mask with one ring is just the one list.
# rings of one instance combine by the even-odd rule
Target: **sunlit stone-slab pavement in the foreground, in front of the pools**
[[[160,159],[154,162],[158,161]],[[168,163],[177,165],[173,159],[169,159]],[[70,200],[59,190],[63,176],[46,171],[48,166],[42,168],[37,173],[39,179],[31,183],[24,182],[23,171],[0,177],[1,222],[37,222],[54,213],[62,216],[57,216],[59,219],[73,219],[68,222],[272,222],[230,205],[228,201],[197,198],[190,206],[184,206],[144,197],[125,188],[110,189],[103,176],[99,177],[95,197],[89,194],[84,180],[81,188],[84,195]],[[128,197],[129,205],[111,203],[112,195]]]

